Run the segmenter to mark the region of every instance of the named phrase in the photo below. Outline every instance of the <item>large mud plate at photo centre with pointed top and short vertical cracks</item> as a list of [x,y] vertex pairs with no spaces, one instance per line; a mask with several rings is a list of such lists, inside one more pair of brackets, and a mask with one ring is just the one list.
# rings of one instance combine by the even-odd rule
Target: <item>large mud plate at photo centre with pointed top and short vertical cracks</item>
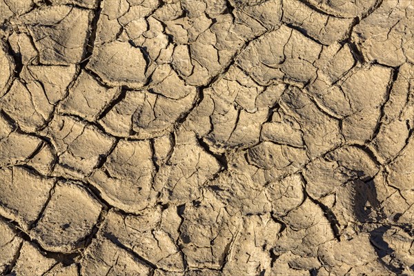
[[236,66],[204,90],[204,99],[186,121],[186,129],[205,136],[215,148],[246,148],[259,141],[261,124],[284,90],[264,90]]

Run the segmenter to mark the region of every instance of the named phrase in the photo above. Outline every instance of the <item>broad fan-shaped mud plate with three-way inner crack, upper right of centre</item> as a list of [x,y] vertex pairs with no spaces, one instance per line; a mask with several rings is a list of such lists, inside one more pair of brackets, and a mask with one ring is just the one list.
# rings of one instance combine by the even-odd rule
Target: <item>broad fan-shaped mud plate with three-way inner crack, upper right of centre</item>
[[250,43],[237,57],[237,63],[262,85],[286,79],[304,86],[316,77],[322,46],[297,30],[282,25]]

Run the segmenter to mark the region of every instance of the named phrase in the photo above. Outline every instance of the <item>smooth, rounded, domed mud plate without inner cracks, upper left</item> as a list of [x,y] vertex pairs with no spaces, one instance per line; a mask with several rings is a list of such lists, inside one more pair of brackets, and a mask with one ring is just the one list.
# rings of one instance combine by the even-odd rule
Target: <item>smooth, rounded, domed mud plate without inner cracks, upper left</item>
[[110,86],[140,88],[146,82],[147,61],[139,48],[113,41],[96,46],[88,68]]

